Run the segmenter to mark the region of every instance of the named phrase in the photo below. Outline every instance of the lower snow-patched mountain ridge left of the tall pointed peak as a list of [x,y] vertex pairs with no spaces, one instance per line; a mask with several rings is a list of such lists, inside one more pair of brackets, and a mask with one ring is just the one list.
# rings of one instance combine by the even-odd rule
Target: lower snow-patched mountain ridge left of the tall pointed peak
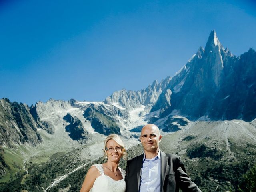
[[[28,107],[1,99],[0,182],[15,178],[20,168],[26,172],[31,164],[46,162],[81,145],[97,148],[111,133],[122,135],[127,146],[137,144],[138,134],[130,130],[146,124],[144,116],[170,79],[154,81],[139,91],[114,92],[103,102],[50,99]],[[95,155],[100,157],[90,154]]]

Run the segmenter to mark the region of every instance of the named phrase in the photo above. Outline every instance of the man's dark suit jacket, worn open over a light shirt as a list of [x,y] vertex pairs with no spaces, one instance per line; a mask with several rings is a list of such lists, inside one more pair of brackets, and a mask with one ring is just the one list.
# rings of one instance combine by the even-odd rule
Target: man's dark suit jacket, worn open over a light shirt
[[[138,192],[144,154],[134,157],[126,166],[126,192]],[[180,156],[161,151],[161,192],[201,192],[186,174]]]

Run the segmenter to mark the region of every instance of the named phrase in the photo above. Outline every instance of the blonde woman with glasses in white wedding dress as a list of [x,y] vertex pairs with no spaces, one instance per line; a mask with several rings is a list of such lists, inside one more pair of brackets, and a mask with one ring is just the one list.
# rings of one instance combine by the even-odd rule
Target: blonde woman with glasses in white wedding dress
[[104,144],[106,163],[95,164],[88,170],[80,192],[125,192],[125,171],[118,163],[127,156],[120,136],[109,135]]

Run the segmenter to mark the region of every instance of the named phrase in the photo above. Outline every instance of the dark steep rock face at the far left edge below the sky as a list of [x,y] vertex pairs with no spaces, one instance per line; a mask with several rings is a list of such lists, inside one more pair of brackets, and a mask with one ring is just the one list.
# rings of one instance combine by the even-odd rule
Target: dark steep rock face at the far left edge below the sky
[[0,100],[0,145],[14,147],[28,143],[36,146],[42,142],[37,132],[39,125],[29,112],[26,104]]

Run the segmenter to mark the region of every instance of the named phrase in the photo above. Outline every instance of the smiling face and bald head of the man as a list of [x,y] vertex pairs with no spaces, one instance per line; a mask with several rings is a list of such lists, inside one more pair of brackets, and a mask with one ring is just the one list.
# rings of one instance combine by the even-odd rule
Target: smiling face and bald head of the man
[[161,138],[158,128],[152,124],[144,126],[141,130],[140,141],[146,152],[156,152]]

